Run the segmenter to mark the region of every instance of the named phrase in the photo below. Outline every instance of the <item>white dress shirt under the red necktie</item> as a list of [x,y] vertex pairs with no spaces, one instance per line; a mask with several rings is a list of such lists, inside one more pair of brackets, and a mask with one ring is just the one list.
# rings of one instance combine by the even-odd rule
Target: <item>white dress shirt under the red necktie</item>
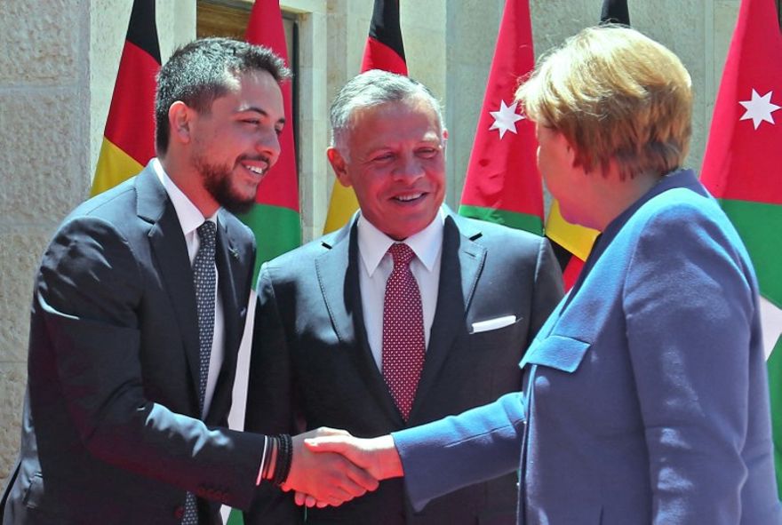
[[[421,292],[424,314],[424,337],[429,346],[429,332],[435,320],[437,292],[440,285],[440,259],[443,253],[443,225],[445,216],[441,209],[435,219],[419,233],[403,241],[415,252],[410,269]],[[382,372],[383,356],[383,302],[386,298],[386,282],[394,269],[394,259],[387,253],[394,239],[381,232],[370,221],[359,216],[358,254],[363,264],[358,265],[358,281],[361,290],[363,321],[366,326],[372,357]]]

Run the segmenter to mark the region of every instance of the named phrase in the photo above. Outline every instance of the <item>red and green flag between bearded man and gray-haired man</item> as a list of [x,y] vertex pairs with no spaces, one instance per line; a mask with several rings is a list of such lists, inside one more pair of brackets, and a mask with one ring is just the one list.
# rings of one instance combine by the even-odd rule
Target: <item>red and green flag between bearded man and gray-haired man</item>
[[[270,48],[285,60],[286,65],[289,64],[279,0],[256,0],[250,13],[245,39],[251,44]],[[256,277],[263,262],[274,259],[301,243],[299,177],[296,169],[296,147],[293,143],[291,83],[283,84],[282,89],[288,122],[280,136],[280,158],[261,180],[251,211],[239,217],[255,233],[255,241],[258,244]]]

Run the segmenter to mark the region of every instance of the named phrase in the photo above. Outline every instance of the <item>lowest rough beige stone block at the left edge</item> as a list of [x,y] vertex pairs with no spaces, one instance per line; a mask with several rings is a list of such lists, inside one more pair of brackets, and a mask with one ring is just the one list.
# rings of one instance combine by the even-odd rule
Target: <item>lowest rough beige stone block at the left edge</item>
[[19,456],[27,364],[0,362],[0,493]]

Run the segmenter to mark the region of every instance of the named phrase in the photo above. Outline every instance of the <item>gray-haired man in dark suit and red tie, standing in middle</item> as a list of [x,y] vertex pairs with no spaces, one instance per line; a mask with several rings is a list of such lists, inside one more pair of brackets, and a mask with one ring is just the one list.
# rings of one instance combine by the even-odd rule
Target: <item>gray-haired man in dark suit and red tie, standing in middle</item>
[[[543,238],[443,205],[440,106],[426,86],[373,70],[331,106],[327,151],[360,211],[342,229],[261,268],[246,429],[318,426],[375,436],[518,390],[525,348],[562,296]],[[307,523],[515,521],[516,476],[461,489],[415,512],[401,480]],[[266,489],[250,523],[299,523],[291,494]]]

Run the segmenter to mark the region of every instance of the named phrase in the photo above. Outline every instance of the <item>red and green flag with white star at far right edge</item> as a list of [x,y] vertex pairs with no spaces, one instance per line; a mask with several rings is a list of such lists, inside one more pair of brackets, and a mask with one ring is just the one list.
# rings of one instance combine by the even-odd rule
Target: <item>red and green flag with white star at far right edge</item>
[[701,179],[738,229],[760,282],[782,489],[782,35],[777,20],[774,0],[742,0]]

